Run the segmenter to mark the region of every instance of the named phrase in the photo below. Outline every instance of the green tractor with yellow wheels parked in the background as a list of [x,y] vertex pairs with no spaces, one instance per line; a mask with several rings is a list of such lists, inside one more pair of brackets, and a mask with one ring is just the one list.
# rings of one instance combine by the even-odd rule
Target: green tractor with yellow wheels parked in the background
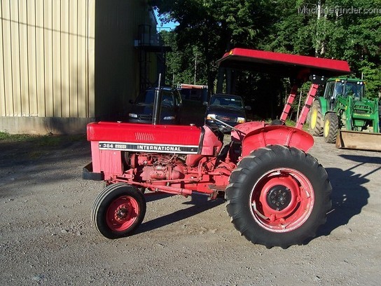
[[[328,143],[336,142],[338,132],[339,137],[342,132],[358,133],[357,136],[350,136],[349,140],[353,142],[349,142],[349,146],[353,149],[368,149],[354,148],[359,140],[364,141],[361,134],[379,132],[378,100],[364,97],[365,85],[361,79],[328,79],[324,96],[315,98],[312,103],[310,133],[314,136],[323,135]],[[380,141],[380,138],[375,140]],[[364,144],[366,146],[366,142]]]

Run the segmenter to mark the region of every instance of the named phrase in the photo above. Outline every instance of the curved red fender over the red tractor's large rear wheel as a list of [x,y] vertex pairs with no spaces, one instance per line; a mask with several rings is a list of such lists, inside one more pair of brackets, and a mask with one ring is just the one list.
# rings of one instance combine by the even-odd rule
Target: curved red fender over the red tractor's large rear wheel
[[242,140],[242,157],[268,145],[296,147],[307,152],[314,145],[314,138],[307,132],[285,125],[266,125],[248,132]]

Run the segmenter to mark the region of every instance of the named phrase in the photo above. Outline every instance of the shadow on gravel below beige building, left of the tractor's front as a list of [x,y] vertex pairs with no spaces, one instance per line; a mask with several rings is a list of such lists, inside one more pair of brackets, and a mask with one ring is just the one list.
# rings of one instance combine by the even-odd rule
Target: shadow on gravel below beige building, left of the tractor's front
[[[81,177],[83,166],[76,164],[91,161],[90,144],[82,135],[0,140],[0,150],[0,195],[12,198],[25,193],[25,181],[43,188],[44,184]],[[68,168],[76,173],[61,172]]]

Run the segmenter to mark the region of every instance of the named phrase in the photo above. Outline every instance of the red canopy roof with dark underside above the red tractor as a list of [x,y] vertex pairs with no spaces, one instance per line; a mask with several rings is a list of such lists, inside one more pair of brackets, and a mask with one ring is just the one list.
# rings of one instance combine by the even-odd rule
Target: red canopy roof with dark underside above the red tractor
[[229,53],[223,55],[217,64],[219,67],[258,71],[298,79],[305,79],[310,74],[331,77],[351,73],[345,60],[330,60],[246,48],[233,48]]

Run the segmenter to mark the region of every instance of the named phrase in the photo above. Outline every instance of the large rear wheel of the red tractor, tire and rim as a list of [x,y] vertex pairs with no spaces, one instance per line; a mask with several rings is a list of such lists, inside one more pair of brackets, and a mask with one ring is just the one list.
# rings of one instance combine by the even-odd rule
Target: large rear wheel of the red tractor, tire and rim
[[266,247],[300,245],[316,235],[331,209],[331,183],[310,154],[271,145],[232,172],[226,208],[235,229]]

